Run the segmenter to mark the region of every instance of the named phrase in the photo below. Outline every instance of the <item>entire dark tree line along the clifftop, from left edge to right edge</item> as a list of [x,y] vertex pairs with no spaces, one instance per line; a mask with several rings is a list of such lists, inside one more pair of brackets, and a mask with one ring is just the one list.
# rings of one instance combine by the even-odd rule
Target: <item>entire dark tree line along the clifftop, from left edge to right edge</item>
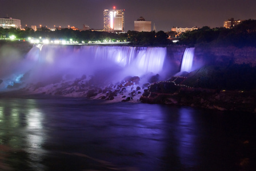
[[[138,32],[127,31],[126,33],[116,34],[105,31],[79,31],[69,28],[51,31],[47,27],[38,28],[37,31],[26,27],[25,30],[16,28],[0,27],[0,38],[9,38],[15,35],[16,39],[27,38],[47,38],[47,39],[65,39],[78,42],[130,42],[135,46],[159,46],[173,44],[170,38],[174,38],[175,32],[151,31]],[[256,20],[249,19],[233,28],[216,27],[210,28],[204,26],[198,30],[184,32],[178,36],[176,44],[186,46],[253,46],[256,47]]]

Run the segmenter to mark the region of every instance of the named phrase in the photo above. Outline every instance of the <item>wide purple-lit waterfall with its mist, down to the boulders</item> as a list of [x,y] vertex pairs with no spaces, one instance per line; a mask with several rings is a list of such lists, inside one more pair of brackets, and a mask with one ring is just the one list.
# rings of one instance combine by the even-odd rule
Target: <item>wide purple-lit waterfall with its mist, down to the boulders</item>
[[[142,76],[148,73],[159,74],[166,57],[163,47],[129,47],[129,46],[34,46],[26,58],[9,58],[0,56],[0,88],[21,82],[22,76],[30,71],[28,83],[57,82],[59,77],[79,78],[93,75],[101,78],[123,79],[125,76]],[[10,70],[10,67],[12,70]]]

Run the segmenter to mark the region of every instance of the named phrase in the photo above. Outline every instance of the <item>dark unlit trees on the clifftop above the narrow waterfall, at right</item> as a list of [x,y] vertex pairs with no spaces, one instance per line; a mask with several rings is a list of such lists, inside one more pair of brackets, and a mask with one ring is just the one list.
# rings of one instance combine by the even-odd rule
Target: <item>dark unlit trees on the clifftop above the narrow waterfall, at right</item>
[[210,28],[205,26],[198,30],[185,32],[179,37],[178,44],[187,46],[256,47],[256,20],[243,21],[233,28]]

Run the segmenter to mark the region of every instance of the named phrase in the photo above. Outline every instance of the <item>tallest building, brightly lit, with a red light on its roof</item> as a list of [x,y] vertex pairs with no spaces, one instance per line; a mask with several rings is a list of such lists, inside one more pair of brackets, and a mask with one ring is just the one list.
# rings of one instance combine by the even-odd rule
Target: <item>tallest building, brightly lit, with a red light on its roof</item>
[[117,10],[115,6],[112,10],[104,10],[104,31],[124,32],[125,31],[125,10]]

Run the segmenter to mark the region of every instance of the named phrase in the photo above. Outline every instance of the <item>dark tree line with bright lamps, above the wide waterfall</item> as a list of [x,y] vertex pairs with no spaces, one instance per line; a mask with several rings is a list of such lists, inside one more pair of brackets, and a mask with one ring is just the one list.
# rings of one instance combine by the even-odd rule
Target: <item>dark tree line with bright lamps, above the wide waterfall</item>
[[38,28],[34,31],[32,28],[26,27],[25,30],[16,28],[2,28],[0,27],[0,38],[9,38],[15,35],[16,39],[27,40],[28,38],[45,38],[45,39],[63,39],[78,41],[78,42],[130,42],[132,45],[161,45],[171,44],[167,39],[168,35],[163,31],[138,32],[127,31],[126,33],[116,34],[114,32],[105,31],[79,31],[70,28],[63,28],[61,30],[51,31],[47,27]]

